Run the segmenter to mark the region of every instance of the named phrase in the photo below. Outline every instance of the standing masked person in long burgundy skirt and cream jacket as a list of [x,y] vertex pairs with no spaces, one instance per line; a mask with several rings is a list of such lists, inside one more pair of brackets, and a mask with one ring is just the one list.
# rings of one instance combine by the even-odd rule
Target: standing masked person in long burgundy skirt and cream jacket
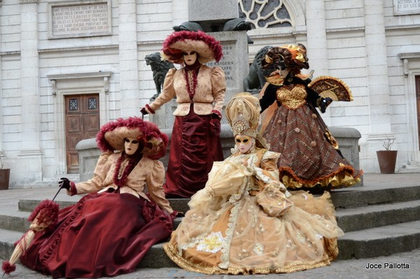
[[179,31],[163,43],[162,57],[181,64],[169,69],[162,93],[141,109],[154,114],[176,97],[175,123],[165,193],[171,198],[190,198],[204,188],[214,161],[223,161],[221,110],[225,100],[225,73],[204,63],[221,60],[221,44],[204,32]]

